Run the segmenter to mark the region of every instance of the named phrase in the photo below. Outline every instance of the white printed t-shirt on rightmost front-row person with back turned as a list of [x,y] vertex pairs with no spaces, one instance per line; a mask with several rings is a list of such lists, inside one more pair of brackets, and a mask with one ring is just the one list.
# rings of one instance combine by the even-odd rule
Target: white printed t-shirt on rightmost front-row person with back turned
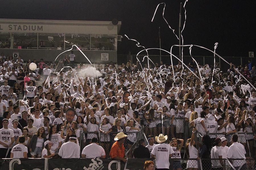
[[[229,148],[227,153],[227,158],[229,159],[245,159],[245,148],[241,143],[234,142]],[[235,167],[243,165],[246,161],[243,160],[233,160],[233,165]]]

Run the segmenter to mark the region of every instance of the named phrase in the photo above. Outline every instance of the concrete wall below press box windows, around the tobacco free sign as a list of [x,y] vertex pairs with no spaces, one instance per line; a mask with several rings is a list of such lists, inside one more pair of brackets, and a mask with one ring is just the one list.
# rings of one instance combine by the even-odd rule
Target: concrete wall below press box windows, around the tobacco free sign
[[[46,61],[54,61],[55,58],[64,52],[65,50],[33,50],[33,49],[0,49],[0,54],[3,52],[5,56],[13,56],[13,52],[18,52],[24,61],[28,61],[29,59],[36,59],[40,61],[43,58]],[[77,62],[88,62],[88,60],[82,55],[79,50],[73,50],[76,55]],[[117,52],[116,51],[83,51],[86,57],[92,62],[100,62],[100,63],[109,63],[113,61],[113,63],[117,62]],[[101,53],[108,53],[108,61],[101,61]],[[63,59],[65,54],[71,54],[70,51],[65,52],[59,56],[56,61]]]

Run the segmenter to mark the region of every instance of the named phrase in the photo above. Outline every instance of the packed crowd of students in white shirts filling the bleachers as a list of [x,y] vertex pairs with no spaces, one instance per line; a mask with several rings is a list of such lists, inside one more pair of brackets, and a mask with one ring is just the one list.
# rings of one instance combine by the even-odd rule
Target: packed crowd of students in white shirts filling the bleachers
[[[110,62],[93,66],[101,74],[95,78],[78,77],[77,73],[88,65],[68,61],[68,56],[58,65],[34,59],[38,67],[30,70],[31,60],[24,63],[21,56],[13,59],[1,54],[1,158],[8,158],[11,147],[20,148],[20,144],[27,147],[29,157],[56,157],[59,150],[64,153],[61,146],[65,143],[79,145],[81,141],[86,146],[93,138],[98,138],[109,157],[119,132],[129,132],[125,148],[130,158],[138,139],[160,133],[180,151],[185,131],[190,138],[193,128],[202,136],[215,133],[209,135],[211,143],[216,137],[226,137],[228,146],[232,145],[232,134],[238,132],[247,156],[249,152],[253,155],[256,92],[238,74],[255,86],[252,63],[231,64],[228,71],[214,69],[213,73],[214,66],[199,65],[198,70],[194,61],[189,63],[192,72],[180,62],[173,68],[162,62],[150,66],[128,62],[118,67]],[[202,79],[197,78],[199,71]],[[164,94],[168,81],[172,87]],[[192,139],[185,145],[193,149],[189,141]]]

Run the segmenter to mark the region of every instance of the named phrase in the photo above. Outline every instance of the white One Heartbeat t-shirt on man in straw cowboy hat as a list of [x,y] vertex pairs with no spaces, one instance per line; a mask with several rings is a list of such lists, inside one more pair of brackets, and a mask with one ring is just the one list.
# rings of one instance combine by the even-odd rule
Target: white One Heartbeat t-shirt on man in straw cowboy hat
[[172,147],[169,144],[159,143],[153,148],[151,153],[156,156],[156,168],[169,169],[169,155],[174,153]]

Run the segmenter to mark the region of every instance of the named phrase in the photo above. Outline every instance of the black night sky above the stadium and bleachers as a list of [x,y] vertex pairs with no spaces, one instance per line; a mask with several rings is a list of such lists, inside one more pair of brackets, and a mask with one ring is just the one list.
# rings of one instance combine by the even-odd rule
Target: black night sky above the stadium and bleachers
[[[111,21],[117,18],[122,22],[119,35],[126,34],[136,39],[146,48],[158,48],[158,28],[161,27],[162,48],[169,51],[178,39],[168,28],[162,17],[164,5],[160,5],[153,22],[151,22],[158,3],[165,2],[165,18],[178,35],[179,6],[185,1],[151,1],[151,0],[51,0],[51,1],[0,1],[0,18],[44,19],[44,20],[97,20]],[[256,1],[246,0],[189,0],[186,4],[187,20],[183,31],[184,44],[195,44],[213,50],[218,42],[216,52],[221,56],[248,57],[249,51],[256,47]],[[182,11],[182,26],[184,22]],[[118,44],[118,54],[137,54],[135,42],[125,37]],[[178,55],[178,48],[174,49]],[[159,51],[150,51],[159,54]],[[162,53],[163,55],[163,53]],[[184,55],[189,55],[188,48]],[[211,53],[193,48],[193,55],[209,56]]]

